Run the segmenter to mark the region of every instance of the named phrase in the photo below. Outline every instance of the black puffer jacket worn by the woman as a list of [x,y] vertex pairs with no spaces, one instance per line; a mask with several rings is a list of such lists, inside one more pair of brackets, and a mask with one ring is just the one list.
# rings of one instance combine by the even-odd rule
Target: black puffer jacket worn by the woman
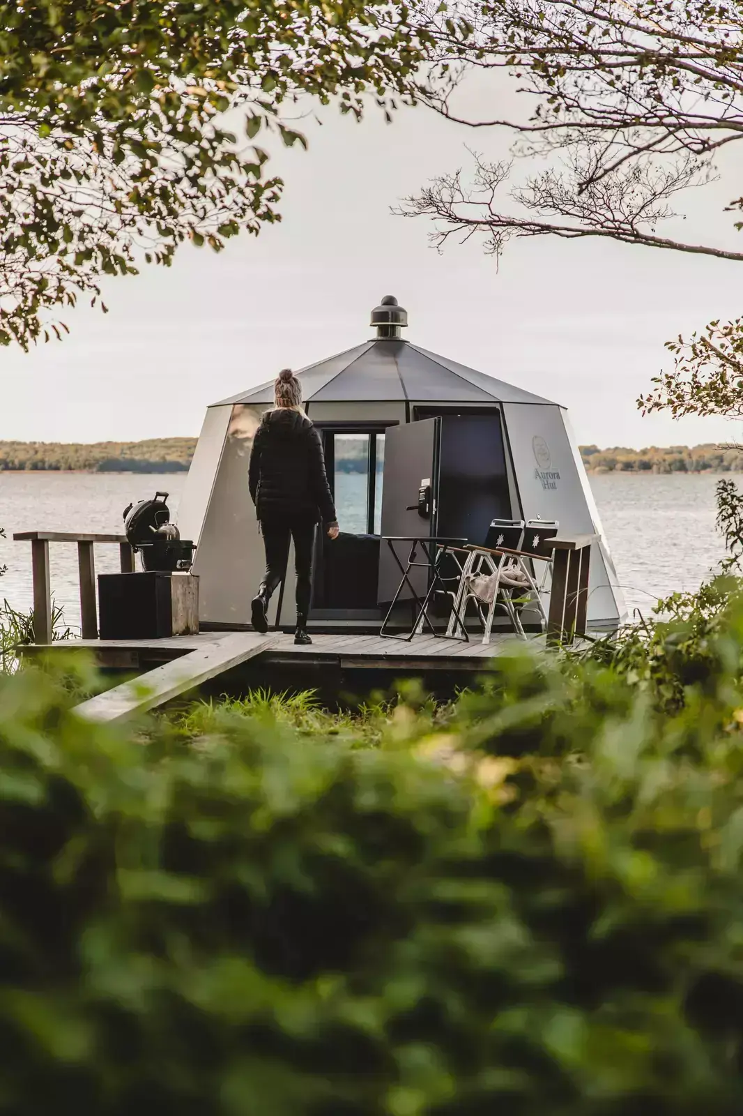
[[298,411],[266,412],[253,440],[249,483],[261,520],[336,521],[320,435]]

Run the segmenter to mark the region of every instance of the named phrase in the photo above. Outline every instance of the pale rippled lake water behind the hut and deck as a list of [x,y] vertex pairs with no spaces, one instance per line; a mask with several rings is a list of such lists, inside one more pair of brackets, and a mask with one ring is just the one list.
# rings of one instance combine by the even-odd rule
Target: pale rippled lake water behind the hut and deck
[[[730,474],[727,474],[730,477]],[[715,530],[714,490],[718,478],[699,474],[606,473],[591,478],[601,522],[624,587],[628,608],[648,613],[658,596],[695,589],[723,556]],[[132,500],[166,489],[177,518],[182,474],[0,473],[0,579],[4,597],[18,609],[31,606],[31,547],[13,542],[13,531],[59,530],[119,532],[122,511]],[[361,531],[353,507],[366,481],[338,474],[337,503],[341,528]],[[245,489],[245,499],[248,492]],[[51,588],[67,623],[79,624],[76,547],[51,543]],[[118,569],[118,547],[96,548],[98,573]]]

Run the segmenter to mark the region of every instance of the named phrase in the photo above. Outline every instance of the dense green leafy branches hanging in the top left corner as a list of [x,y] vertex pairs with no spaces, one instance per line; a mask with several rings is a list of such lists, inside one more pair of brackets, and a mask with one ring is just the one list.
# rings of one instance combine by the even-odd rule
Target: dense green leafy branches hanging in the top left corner
[[301,95],[360,116],[368,90],[389,113],[418,58],[378,0],[0,3],[0,344],[60,336],[46,311],[95,304],[143,256],[278,220],[251,141],[305,143],[281,117]]

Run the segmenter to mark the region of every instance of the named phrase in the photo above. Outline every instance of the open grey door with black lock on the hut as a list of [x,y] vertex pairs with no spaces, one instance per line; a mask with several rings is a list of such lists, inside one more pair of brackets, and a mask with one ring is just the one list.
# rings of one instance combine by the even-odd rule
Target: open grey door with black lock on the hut
[[[385,440],[384,487],[382,490],[383,542],[379,548],[378,600],[385,605],[395,596],[401,571],[384,541],[390,536],[430,537],[436,532],[437,458],[441,419],[393,426]],[[398,542],[395,550],[405,566],[409,542]],[[411,580],[424,596],[428,587],[425,569],[414,570]],[[409,598],[406,588],[401,599]]]

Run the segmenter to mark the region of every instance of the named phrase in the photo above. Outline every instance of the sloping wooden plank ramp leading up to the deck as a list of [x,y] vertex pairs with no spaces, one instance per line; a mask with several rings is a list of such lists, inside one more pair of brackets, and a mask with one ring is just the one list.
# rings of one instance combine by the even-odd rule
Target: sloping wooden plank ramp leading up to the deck
[[146,713],[260,655],[274,639],[276,635],[258,635],[254,632],[220,636],[206,646],[90,698],[77,705],[75,713],[87,721],[123,721],[136,713]]

